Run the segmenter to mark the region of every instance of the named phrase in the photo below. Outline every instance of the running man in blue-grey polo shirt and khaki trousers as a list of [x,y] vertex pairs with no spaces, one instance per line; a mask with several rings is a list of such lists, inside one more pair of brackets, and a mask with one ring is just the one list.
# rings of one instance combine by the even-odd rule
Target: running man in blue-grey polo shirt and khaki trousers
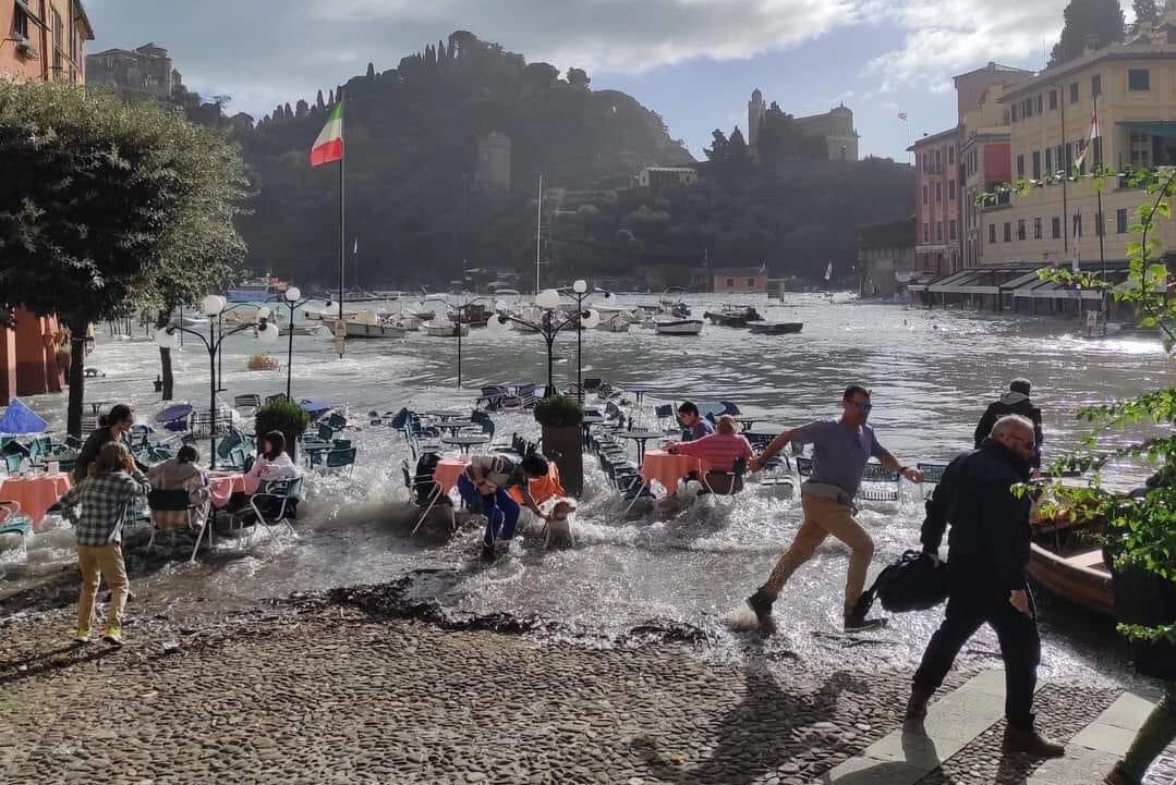
[[911,482],[923,482],[923,472],[903,465],[875,438],[874,429],[866,424],[873,408],[870,391],[851,384],[842,395],[840,420],[818,420],[786,430],[750,462],[748,468],[755,471],[789,442],[813,444],[813,475],[801,485],[804,519],[800,531],[788,551],[780,557],[768,582],[747,599],[761,628],[769,624],[771,604],[784,583],[811,558],[817,545],[829,535],[850,548],[849,572],[846,576],[846,632],[873,630],[886,624],[886,619],[867,619],[854,610],[866,588],[866,572],[874,557],[874,541],[854,519],[857,511],[854,496],[862,483],[866,463],[871,457]]

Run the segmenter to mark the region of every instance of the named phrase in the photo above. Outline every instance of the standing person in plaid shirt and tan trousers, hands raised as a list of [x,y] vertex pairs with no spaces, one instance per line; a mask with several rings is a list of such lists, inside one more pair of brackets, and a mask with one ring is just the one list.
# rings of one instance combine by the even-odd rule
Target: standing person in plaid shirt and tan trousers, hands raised
[[[135,467],[131,450],[120,442],[106,444],[89,467],[89,475],[61,497],[58,504],[73,523],[78,537],[78,643],[88,643],[94,625],[94,596],[102,576],[111,588],[102,639],[122,645],[122,609],[129,584],[122,563],[122,524],[134,515],[135,497],[146,496],[151,483]],[[80,509],[79,509],[80,508]]]

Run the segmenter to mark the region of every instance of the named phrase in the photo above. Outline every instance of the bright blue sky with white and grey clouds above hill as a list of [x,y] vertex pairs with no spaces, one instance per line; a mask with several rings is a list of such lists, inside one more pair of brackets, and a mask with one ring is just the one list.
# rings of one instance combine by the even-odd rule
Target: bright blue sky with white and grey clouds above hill
[[[1130,1],[1121,0],[1130,18]],[[786,112],[854,110],[861,154],[906,157],[955,123],[951,75],[1040,69],[1067,0],[86,0],[89,52],[155,41],[189,89],[261,116],[455,29],[584,68],[660,113],[702,155],[747,130],[755,88]]]

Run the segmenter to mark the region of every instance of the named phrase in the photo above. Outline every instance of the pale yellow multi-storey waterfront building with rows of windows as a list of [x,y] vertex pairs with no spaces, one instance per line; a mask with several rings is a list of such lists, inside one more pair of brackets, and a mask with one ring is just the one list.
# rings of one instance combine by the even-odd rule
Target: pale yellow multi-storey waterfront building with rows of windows
[[[1109,267],[1122,268],[1128,242],[1138,239],[1129,227],[1144,194],[1108,180],[1100,215],[1093,180],[1065,174],[1080,161],[1083,174],[1096,166],[1176,165],[1176,25],[1047,69],[1005,90],[1002,103],[1009,109],[1010,179],[1030,186],[981,210],[976,257],[983,264],[1069,266],[1077,256],[1084,269],[1097,270],[1101,239]],[[1162,221],[1155,236],[1176,248],[1171,221]]]

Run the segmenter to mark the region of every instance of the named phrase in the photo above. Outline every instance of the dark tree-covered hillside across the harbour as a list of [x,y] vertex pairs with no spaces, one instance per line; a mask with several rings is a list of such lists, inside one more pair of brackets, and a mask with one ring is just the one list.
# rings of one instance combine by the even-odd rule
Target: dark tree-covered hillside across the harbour
[[[640,271],[686,284],[703,261],[816,279],[830,260],[854,263],[855,226],[910,210],[910,167],[827,161],[824,142],[776,105],[757,156],[736,128],[716,130],[696,163],[632,96],[459,31],[393,71],[369,66],[313,101],[275,107],[255,127],[226,118],[223,98],[179,96],[189,119],[220,125],[243,147],[255,193],[240,226],[254,273],[336,282],[339,172],[313,169],[308,152],[341,96],[349,287],[437,287],[476,268],[528,280],[541,173],[541,253],[553,279]],[[477,142],[492,133],[512,141],[509,192],[475,181]],[[699,169],[696,184],[636,187],[644,166],[683,165]]]

